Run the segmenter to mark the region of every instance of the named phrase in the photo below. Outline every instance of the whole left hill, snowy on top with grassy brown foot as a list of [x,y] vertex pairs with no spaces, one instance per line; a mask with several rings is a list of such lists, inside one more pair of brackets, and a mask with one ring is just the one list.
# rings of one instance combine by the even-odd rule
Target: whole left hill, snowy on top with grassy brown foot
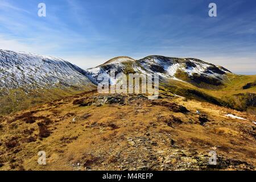
[[0,114],[94,87],[86,72],[68,61],[0,49]]

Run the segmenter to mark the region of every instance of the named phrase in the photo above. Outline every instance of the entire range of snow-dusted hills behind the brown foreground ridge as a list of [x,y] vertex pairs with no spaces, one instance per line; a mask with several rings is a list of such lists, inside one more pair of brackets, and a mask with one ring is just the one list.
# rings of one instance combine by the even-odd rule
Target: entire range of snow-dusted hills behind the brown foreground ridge
[[0,114],[8,114],[97,88],[100,73],[156,73],[163,95],[179,95],[256,114],[256,76],[194,58],[114,57],[87,70],[68,61],[33,53],[0,50]]

